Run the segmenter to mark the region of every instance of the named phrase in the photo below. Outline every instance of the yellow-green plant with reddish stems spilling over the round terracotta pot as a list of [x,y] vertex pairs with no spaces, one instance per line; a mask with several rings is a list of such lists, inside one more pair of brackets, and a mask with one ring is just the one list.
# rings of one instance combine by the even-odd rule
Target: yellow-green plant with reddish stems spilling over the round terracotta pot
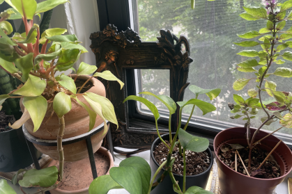
[[[79,59],[79,56],[86,51],[76,35],[62,35],[66,29],[47,29],[40,34],[38,24],[33,23],[36,15],[68,2],[68,0],[47,0],[37,3],[35,0],[5,0],[12,8],[0,14],[0,67],[11,76],[19,79],[22,84],[8,94],[0,95],[0,106],[6,99],[22,98],[24,113],[20,120],[14,122],[10,127],[18,129],[31,119],[33,121],[33,132],[37,131],[43,122],[45,113],[53,108],[54,113],[59,117],[59,132],[57,136],[57,151],[59,152],[59,170],[55,167],[43,170],[28,170],[24,173],[23,179],[19,181],[20,186],[50,187],[56,184],[57,179],[63,179],[63,147],[62,138],[65,129],[64,115],[71,110],[71,100],[83,106],[89,113],[89,131],[95,125],[97,115],[105,122],[107,131],[107,120],[118,125],[114,106],[109,99],[96,95],[92,92],[80,93],[82,88],[93,77],[101,77],[109,81],[118,81],[123,87],[123,82],[116,78],[111,72],[96,72],[97,67],[86,63],[80,63],[76,72],[77,76],[93,74],[77,90],[75,79],[61,74],[56,76],[58,71],[74,70],[72,66]],[[0,0],[0,4],[3,0]],[[12,38],[13,27],[6,19],[22,19],[25,32],[15,33]],[[52,46],[48,47],[48,44]],[[40,45],[42,45],[40,49]],[[56,63],[55,63],[55,60]],[[74,70],[75,71],[75,70]],[[83,96],[90,106],[81,102],[77,97]],[[19,170],[18,173],[24,172]],[[18,175],[17,173],[17,175]],[[17,183],[17,175],[13,183]],[[7,184],[1,180],[0,184]],[[2,187],[1,187],[2,188]],[[6,186],[3,188],[6,188]]]

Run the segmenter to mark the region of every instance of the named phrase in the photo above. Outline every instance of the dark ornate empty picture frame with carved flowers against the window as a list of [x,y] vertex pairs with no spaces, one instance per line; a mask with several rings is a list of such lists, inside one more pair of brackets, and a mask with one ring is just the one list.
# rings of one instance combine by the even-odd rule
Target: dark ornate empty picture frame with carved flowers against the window
[[[141,152],[150,149],[151,143],[157,137],[156,129],[144,127],[130,127],[128,103],[123,100],[128,96],[129,85],[135,79],[128,74],[135,69],[162,69],[170,72],[170,97],[175,102],[183,101],[190,63],[190,45],[185,35],[176,35],[170,31],[160,31],[158,42],[141,42],[138,33],[128,29],[118,32],[112,24],[108,24],[103,31],[92,33],[91,50],[95,54],[98,72],[111,71],[118,79],[125,83],[121,89],[115,81],[104,83],[107,98],[114,104],[118,128],[111,124],[112,142],[114,147],[139,149]],[[181,45],[185,45],[183,54]],[[132,75],[131,75],[132,76]],[[135,94],[130,94],[135,95]],[[173,115],[171,129],[176,129],[178,120]],[[116,151],[116,150],[115,150]]]

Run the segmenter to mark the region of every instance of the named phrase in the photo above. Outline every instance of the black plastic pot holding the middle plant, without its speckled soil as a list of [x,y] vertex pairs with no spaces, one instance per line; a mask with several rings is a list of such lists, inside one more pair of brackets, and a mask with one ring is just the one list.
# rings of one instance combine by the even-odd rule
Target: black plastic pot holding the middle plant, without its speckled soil
[[[175,133],[172,134],[172,137],[174,137],[174,135]],[[164,134],[161,137],[163,140],[169,140],[169,134]],[[161,142],[160,138],[157,138],[154,140],[151,146],[151,157],[150,157],[151,177],[153,177],[156,170],[159,168],[159,164],[154,159],[153,151],[160,142]],[[213,165],[213,154],[210,148],[208,148],[206,152],[208,153],[208,156],[210,157],[209,168],[199,175],[187,176],[186,181],[185,181],[186,190],[187,188],[190,188],[191,186],[199,186],[201,188],[206,188],[207,183],[208,183],[208,178],[209,178],[212,165]],[[163,172],[164,170],[162,169],[160,173],[157,175],[155,181],[157,180],[157,178],[159,178],[162,175]],[[176,179],[176,181],[178,181],[178,185],[180,186],[180,189],[183,190],[183,176],[174,174],[174,178]],[[165,177],[164,180],[157,187],[155,187],[153,191],[151,191],[151,194],[162,194],[162,193],[177,194],[176,192],[174,192],[174,188],[173,188],[171,179],[169,178],[169,175],[167,175],[167,177]]]

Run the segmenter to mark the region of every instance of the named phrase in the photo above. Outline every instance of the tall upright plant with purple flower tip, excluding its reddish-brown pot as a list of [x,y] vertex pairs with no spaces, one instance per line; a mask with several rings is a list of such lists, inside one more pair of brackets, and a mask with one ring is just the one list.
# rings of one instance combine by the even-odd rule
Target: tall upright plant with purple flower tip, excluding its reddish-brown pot
[[[236,105],[231,104],[231,113],[237,113],[231,118],[238,119],[243,117],[243,120],[247,121],[245,127],[247,129],[246,138],[249,147],[247,166],[247,172],[249,172],[249,174],[252,173],[252,150],[256,145],[261,143],[261,140],[267,137],[266,136],[255,142],[259,130],[261,130],[265,124],[268,125],[277,120],[279,120],[279,124],[282,124],[283,127],[292,127],[292,93],[277,91],[277,84],[270,81],[271,76],[281,76],[286,78],[292,77],[292,70],[290,68],[272,68],[273,65],[282,65],[285,63],[284,60],[292,60],[291,51],[283,52],[284,49],[292,48],[292,41],[286,41],[292,38],[292,27],[286,31],[283,30],[287,19],[292,19],[292,12],[286,15],[287,10],[292,7],[292,1],[277,3],[277,0],[262,0],[262,4],[265,8],[243,7],[245,13],[240,14],[240,17],[243,17],[243,19],[248,21],[264,19],[267,24],[266,27],[259,31],[249,31],[242,35],[238,35],[240,38],[245,39],[260,37],[259,41],[247,40],[235,43],[241,47],[254,47],[256,45],[261,45],[261,48],[263,49],[261,51],[243,50],[238,53],[240,56],[257,58],[245,60],[242,63],[239,63],[237,67],[237,70],[240,72],[254,72],[254,78],[238,79],[233,83],[234,90],[243,90],[247,83],[252,80],[256,83],[256,88],[247,90],[247,94],[249,95],[248,99],[243,99],[243,97],[240,97],[239,95],[233,95]],[[284,60],[282,60],[282,58]],[[263,104],[263,94],[265,93],[270,95],[270,97],[274,97],[275,102]],[[256,129],[251,137],[249,127],[251,120],[256,118],[255,115],[258,113],[259,108],[264,111],[266,116],[261,118],[262,124]],[[284,112],[286,112],[285,115],[283,115]],[[282,129],[282,127],[279,129]],[[279,129],[273,131],[272,134]],[[279,145],[279,143],[277,145]],[[270,152],[270,154],[272,154],[272,152]],[[270,156],[270,154],[268,156]],[[266,159],[261,165],[265,161]]]

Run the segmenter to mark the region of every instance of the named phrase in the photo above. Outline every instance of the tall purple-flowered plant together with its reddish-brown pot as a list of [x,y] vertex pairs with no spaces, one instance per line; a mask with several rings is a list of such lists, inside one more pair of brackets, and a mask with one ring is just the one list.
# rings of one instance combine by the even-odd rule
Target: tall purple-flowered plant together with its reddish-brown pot
[[[291,13],[286,11],[292,7],[292,1],[277,3],[276,0],[263,0],[265,8],[245,8],[240,17],[247,20],[265,19],[266,28],[249,31],[238,35],[240,38],[259,38],[259,41],[247,40],[235,43],[241,47],[261,45],[262,51],[244,50],[238,54],[249,59],[238,64],[240,72],[254,72],[252,79],[238,79],[233,89],[242,90],[249,81],[254,80],[256,88],[247,90],[248,99],[233,95],[236,105],[229,104],[231,118],[243,118],[245,127],[226,129],[215,137],[214,147],[219,167],[220,188],[223,193],[256,193],[271,194],[277,184],[291,172],[292,154],[289,147],[273,133],[282,127],[291,128],[292,93],[277,91],[277,84],[271,81],[272,76],[291,77],[292,70],[287,67],[274,67],[292,60],[291,51],[283,51],[291,47],[292,28],[284,31],[286,20]],[[282,60],[284,58],[284,60]],[[264,95],[274,98],[274,102],[264,104]],[[258,97],[258,98],[257,98]],[[265,116],[256,129],[251,129],[252,119],[256,118],[261,109]],[[282,125],[272,134],[262,130],[263,126],[276,122]]]

